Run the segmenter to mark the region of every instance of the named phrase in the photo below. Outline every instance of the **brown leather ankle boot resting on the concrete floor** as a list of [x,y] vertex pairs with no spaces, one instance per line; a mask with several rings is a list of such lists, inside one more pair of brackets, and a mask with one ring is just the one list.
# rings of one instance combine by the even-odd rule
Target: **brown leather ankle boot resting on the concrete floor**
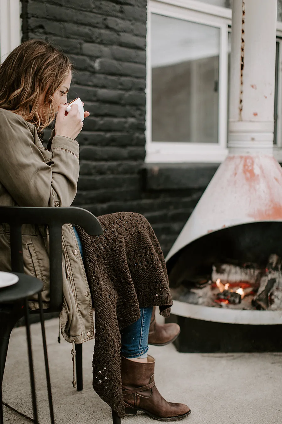
[[182,403],[167,402],[154,382],[155,360],[148,356],[148,363],[131,361],[121,357],[121,380],[126,414],[143,411],[156,420],[177,421],[191,413]]

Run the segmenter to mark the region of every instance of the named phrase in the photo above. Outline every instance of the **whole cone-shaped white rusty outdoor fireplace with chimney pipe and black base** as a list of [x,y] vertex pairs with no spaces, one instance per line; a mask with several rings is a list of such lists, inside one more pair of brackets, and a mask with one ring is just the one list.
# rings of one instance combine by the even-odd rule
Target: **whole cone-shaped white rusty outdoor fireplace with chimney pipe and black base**
[[229,155],[166,258],[172,312],[186,326],[181,351],[282,350],[282,341],[272,343],[282,328],[282,168],[272,155],[276,13],[277,0],[233,0]]

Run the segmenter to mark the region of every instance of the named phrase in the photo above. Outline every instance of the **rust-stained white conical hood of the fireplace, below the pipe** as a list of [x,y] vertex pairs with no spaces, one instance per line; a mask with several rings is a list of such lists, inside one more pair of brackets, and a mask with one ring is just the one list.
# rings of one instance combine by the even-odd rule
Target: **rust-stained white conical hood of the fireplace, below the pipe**
[[206,234],[261,221],[282,221],[282,167],[271,155],[229,155],[216,171],[166,260]]

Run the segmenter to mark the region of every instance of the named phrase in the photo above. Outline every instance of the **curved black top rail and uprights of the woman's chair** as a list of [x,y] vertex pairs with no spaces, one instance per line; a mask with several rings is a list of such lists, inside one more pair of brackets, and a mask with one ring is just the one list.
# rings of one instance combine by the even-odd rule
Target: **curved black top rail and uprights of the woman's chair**
[[22,255],[23,224],[48,225],[50,234],[50,308],[60,311],[63,303],[62,226],[79,225],[90,235],[103,234],[99,220],[89,211],[77,207],[20,207],[0,206],[0,222],[10,226],[11,269],[24,272]]

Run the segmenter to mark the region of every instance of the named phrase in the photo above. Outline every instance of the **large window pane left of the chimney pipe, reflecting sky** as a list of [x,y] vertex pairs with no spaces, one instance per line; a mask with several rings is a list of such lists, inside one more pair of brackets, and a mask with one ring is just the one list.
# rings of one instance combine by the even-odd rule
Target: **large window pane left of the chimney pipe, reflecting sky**
[[152,141],[217,143],[219,28],[151,22]]

